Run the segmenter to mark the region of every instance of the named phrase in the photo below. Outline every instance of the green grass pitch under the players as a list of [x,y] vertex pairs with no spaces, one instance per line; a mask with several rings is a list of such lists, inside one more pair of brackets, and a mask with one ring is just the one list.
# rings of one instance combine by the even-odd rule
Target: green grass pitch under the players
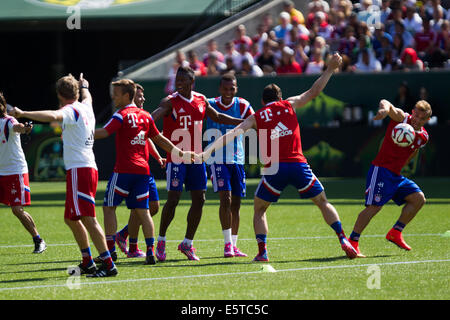
[[[327,196],[335,205],[347,236],[363,209],[363,179],[323,178]],[[194,240],[200,261],[188,261],[177,251],[184,238],[188,194],[177,209],[167,232],[167,261],[143,265],[118,253],[119,275],[88,279],[69,277],[67,268],[80,261],[80,253],[63,222],[65,184],[31,183],[33,216],[48,249],[39,255],[31,237],[10,209],[0,207],[0,299],[214,299],[214,300],[309,300],[309,299],[432,299],[450,298],[450,179],[415,180],[427,196],[427,204],[405,228],[410,252],[385,240],[400,208],[392,202],[372,220],[360,240],[365,259],[349,260],[333,230],[310,200],[300,200],[293,188],[283,193],[268,212],[268,249],[277,272],[264,272],[264,264],[252,262],[257,252],[253,232],[253,194],[258,180],[249,180],[242,202],[238,246],[248,258],[223,258],[223,237],[218,218],[218,196],[207,192],[203,218]],[[102,198],[106,182],[99,183],[97,216],[103,226]],[[158,182],[161,208],[167,193]],[[161,210],[154,217],[156,232]],[[128,211],[118,208],[119,228]],[[448,233],[447,233],[448,235]],[[139,245],[145,247],[140,233]],[[93,255],[97,252],[92,248]]]

